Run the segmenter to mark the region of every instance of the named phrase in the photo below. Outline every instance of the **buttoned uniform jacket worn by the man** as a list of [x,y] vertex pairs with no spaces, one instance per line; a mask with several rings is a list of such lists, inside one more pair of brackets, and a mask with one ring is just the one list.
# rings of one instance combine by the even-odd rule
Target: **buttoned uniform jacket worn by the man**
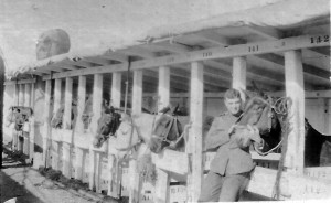
[[[249,153],[252,141],[238,139],[236,133],[228,135],[229,128],[237,121],[237,117],[225,113],[216,117],[206,135],[206,150],[216,149],[216,156],[211,162],[211,171],[227,175],[249,172],[255,163]],[[244,135],[245,136],[245,135]]]

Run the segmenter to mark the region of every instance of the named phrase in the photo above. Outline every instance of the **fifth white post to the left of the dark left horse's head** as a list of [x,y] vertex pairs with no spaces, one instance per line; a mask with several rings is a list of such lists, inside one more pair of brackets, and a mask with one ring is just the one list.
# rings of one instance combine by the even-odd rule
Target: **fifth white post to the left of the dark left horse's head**
[[50,113],[51,113],[51,90],[52,90],[52,81],[46,81],[45,87],[45,106],[44,106],[44,130],[43,130],[43,167],[49,167],[49,138],[51,137],[51,126],[50,126]]

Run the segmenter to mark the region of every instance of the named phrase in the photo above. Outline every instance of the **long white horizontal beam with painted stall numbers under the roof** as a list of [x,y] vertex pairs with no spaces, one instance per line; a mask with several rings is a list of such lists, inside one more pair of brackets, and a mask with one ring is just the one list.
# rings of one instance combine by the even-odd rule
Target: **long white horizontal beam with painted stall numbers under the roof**
[[[205,61],[215,58],[227,58],[245,55],[265,54],[274,52],[285,52],[288,50],[298,50],[305,47],[318,47],[318,46],[330,46],[329,42],[311,42],[311,39],[316,39],[320,35],[305,35],[295,36],[267,42],[256,42],[249,44],[229,45],[226,47],[212,47],[202,51],[194,51],[183,54],[169,55],[162,57],[156,57],[150,60],[140,60],[131,63],[131,70],[141,70],[149,67],[159,67],[162,65],[172,65],[180,63],[189,63],[194,61]],[[328,34],[327,34],[328,35]],[[67,76],[89,75],[95,73],[113,73],[118,71],[126,71],[127,64],[115,64],[94,68],[86,68],[79,71],[71,71],[65,73],[53,74],[53,78],[62,78]],[[44,76],[43,79],[50,79],[50,76]]]

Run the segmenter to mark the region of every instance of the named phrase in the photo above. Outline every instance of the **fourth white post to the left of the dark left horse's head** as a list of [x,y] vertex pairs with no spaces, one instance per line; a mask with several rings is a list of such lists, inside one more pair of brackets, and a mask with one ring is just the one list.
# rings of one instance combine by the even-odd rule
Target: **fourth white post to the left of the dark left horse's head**
[[[61,107],[61,85],[62,85],[62,79],[55,79],[53,116],[55,116],[56,111]],[[52,139],[52,168],[54,170],[58,170],[58,159],[60,159],[58,153],[60,153],[60,145],[57,141],[54,141]]]

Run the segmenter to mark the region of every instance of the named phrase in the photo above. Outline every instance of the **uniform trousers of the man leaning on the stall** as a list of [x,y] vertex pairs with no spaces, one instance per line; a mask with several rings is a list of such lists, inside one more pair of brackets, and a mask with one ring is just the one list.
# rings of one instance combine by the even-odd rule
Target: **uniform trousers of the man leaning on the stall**
[[237,202],[249,177],[250,172],[221,175],[210,171],[203,181],[199,202]]

